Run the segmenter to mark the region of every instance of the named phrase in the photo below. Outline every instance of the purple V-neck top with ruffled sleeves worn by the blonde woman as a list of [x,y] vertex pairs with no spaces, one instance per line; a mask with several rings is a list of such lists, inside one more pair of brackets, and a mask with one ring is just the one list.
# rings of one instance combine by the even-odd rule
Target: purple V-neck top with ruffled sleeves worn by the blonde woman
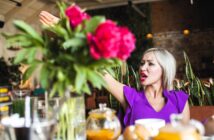
[[128,103],[123,123],[125,126],[134,124],[137,119],[143,118],[160,118],[166,123],[170,122],[172,113],[182,113],[184,106],[188,100],[188,94],[183,91],[167,91],[164,90],[163,95],[166,99],[166,104],[157,112],[148,102],[144,91],[136,91],[136,89],[124,86],[123,92]]

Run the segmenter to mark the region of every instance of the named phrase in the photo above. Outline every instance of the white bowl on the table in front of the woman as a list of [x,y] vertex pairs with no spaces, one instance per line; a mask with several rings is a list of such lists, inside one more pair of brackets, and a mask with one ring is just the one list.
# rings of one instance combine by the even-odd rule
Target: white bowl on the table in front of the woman
[[158,135],[159,129],[166,125],[166,122],[163,119],[157,118],[138,119],[135,121],[135,125],[144,126],[151,133],[152,137],[154,137]]

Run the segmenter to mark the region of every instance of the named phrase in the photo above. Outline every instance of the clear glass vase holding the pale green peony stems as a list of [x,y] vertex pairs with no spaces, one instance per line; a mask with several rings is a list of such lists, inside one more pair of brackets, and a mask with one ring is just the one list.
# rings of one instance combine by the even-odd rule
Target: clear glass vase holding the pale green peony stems
[[73,94],[61,107],[57,139],[85,140],[86,119],[83,95]]

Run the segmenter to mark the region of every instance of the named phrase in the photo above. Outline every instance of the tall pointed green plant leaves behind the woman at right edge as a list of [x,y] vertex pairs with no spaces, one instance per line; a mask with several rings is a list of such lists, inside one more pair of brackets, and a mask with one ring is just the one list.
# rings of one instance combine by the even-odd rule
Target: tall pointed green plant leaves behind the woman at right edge
[[186,79],[177,81],[175,89],[184,90],[190,95],[190,105],[214,105],[214,84],[212,80],[202,82],[194,74],[189,58],[185,52],[184,59]]

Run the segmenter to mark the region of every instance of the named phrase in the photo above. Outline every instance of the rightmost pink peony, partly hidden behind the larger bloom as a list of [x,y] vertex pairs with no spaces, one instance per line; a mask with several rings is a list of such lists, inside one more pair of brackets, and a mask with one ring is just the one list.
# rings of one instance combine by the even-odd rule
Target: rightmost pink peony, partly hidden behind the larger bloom
[[126,60],[135,49],[136,39],[126,27],[120,27],[120,47],[117,57]]

